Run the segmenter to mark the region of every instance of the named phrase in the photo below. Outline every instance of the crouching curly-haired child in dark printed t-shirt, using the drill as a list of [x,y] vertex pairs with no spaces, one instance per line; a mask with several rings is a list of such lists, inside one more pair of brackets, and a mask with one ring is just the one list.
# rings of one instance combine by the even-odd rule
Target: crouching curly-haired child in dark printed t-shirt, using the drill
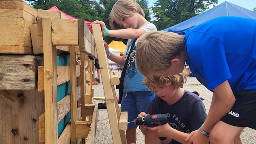
[[[195,93],[181,89],[184,80],[186,76],[182,73],[166,77],[145,77],[143,84],[157,95],[147,108],[148,114],[167,114],[168,117],[165,125],[147,129],[141,127],[145,144],[184,144],[189,133],[204,123],[204,104]],[[141,112],[138,117],[148,114]]]

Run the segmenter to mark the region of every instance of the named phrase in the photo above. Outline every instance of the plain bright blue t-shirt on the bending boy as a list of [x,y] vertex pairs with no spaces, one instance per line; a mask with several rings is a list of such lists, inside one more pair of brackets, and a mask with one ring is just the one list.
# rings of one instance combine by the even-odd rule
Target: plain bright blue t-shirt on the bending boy
[[228,80],[234,93],[256,89],[256,20],[225,16],[185,32],[186,63],[207,89]]

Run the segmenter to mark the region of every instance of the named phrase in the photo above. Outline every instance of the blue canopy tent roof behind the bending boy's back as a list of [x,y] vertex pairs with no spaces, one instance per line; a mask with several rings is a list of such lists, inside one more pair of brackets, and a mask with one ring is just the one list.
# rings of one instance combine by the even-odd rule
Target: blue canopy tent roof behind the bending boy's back
[[215,17],[227,15],[256,19],[255,12],[226,1],[209,9],[208,11],[205,11],[204,13],[201,13],[200,15],[192,17],[186,21],[173,25],[162,31],[175,32],[183,35],[184,31],[186,31],[189,28],[192,28],[195,25],[199,25]]

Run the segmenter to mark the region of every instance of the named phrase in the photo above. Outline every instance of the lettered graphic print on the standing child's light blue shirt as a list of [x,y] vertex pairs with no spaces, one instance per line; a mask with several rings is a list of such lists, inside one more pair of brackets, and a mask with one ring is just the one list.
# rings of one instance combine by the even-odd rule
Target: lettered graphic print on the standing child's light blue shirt
[[[132,49],[131,45],[132,45],[133,41],[134,41],[134,39],[130,41],[130,44],[129,44],[130,49]],[[129,51],[130,51],[130,49],[129,49]],[[125,61],[128,60],[126,74],[128,74],[129,78],[133,78],[137,74],[137,70],[138,70],[138,68],[136,68],[136,64],[135,64],[135,61],[136,61],[135,60],[135,58],[136,58],[135,51],[136,51],[136,46],[134,45],[129,59],[127,59],[128,54],[125,57]]]

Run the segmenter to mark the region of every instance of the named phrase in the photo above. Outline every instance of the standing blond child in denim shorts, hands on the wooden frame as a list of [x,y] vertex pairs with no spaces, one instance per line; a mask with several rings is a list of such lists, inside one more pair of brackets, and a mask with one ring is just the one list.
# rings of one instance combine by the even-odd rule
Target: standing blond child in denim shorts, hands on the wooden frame
[[[142,84],[144,76],[139,72],[135,59],[136,45],[131,47],[135,38],[150,31],[156,31],[156,26],[145,19],[143,9],[134,0],[117,0],[109,14],[109,23],[112,30],[108,30],[103,21],[93,21],[92,24],[99,23],[103,36],[128,39],[123,56],[113,55],[108,51],[108,44],[104,42],[108,59],[124,66],[128,61],[126,75],[124,77],[124,93],[121,101],[121,112],[128,112],[128,121],[133,121],[142,111],[147,112],[147,107],[153,100],[155,94]],[[127,57],[130,49],[132,53]],[[128,124],[126,140],[128,144],[136,143],[136,129],[134,123]]]

